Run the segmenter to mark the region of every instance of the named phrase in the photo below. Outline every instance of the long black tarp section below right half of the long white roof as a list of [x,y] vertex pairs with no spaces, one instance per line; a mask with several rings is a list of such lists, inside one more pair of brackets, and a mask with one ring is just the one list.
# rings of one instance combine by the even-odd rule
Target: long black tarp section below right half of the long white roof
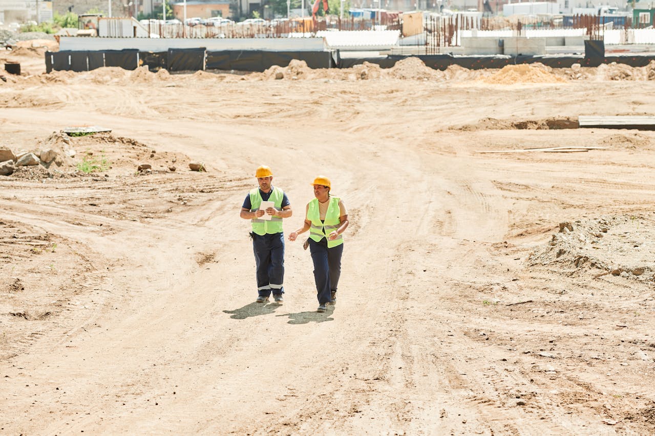
[[305,61],[310,68],[333,68],[337,63],[331,52],[272,52],[262,50],[225,50],[207,52],[207,69],[265,71],[273,65],[286,67],[293,59]]

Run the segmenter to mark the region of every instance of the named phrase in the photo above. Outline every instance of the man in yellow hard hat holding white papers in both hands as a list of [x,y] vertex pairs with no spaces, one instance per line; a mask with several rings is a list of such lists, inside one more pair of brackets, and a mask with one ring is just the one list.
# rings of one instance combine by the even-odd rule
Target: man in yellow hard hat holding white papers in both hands
[[[284,235],[282,233],[282,218],[289,218],[293,213],[286,193],[272,186],[273,173],[271,168],[261,165],[255,171],[259,188],[253,188],[241,208],[241,218],[250,220],[252,224],[253,251],[257,265],[257,303],[269,301],[271,292],[276,303],[284,300]],[[261,210],[262,201],[271,201],[274,207]],[[270,219],[262,218],[264,214]]]

